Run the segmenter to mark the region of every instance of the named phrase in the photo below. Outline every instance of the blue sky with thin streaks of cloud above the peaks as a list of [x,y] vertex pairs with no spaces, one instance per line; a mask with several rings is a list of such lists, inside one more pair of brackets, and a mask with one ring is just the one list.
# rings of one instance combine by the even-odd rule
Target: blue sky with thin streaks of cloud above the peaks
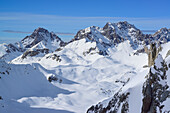
[[170,28],[170,0],[0,0],[0,43],[15,42],[37,27],[65,41],[86,27],[128,21],[142,30]]

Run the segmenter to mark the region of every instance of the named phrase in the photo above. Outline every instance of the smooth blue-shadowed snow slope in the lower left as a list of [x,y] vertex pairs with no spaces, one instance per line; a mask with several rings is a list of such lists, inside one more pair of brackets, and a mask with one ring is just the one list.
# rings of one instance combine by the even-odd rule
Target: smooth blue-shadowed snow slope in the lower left
[[[0,61],[0,94],[3,98],[0,100],[1,113],[29,113],[29,112],[56,112],[49,108],[30,108],[30,104],[36,104],[29,101],[29,104],[20,104],[26,98],[41,98],[45,102],[45,98],[52,100],[52,97],[57,97],[59,94],[71,94],[72,91],[64,90],[52,85],[46,76],[55,74],[45,70],[39,64],[33,65],[16,65],[7,64]],[[42,72],[44,71],[44,72]],[[44,73],[46,72],[46,75]],[[74,84],[67,79],[63,79],[63,83]],[[41,103],[37,100],[38,103]],[[60,110],[57,110],[61,112]],[[63,112],[66,112],[63,110]]]

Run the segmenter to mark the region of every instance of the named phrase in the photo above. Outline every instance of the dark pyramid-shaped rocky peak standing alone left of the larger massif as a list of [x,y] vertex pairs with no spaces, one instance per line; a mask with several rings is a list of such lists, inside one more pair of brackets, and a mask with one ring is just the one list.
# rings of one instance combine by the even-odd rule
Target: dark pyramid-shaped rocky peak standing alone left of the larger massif
[[[49,32],[44,28],[37,28],[30,36],[26,36],[20,43],[16,44],[21,48],[31,48],[35,45],[37,45],[37,48],[43,48],[42,43],[48,48],[48,46],[62,46],[64,42],[53,32]],[[50,47],[49,49],[53,48]]]

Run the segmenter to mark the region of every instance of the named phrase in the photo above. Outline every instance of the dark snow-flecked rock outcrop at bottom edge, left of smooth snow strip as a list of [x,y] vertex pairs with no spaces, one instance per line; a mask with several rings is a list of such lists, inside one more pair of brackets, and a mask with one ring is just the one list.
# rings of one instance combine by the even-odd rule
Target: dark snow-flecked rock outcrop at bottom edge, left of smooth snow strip
[[[87,113],[117,113],[119,109],[121,109],[121,113],[128,113],[129,104],[128,104],[128,96],[127,93],[116,93],[111,101],[109,101],[108,105],[103,105],[103,103],[98,103],[96,106],[91,106]],[[121,108],[120,108],[121,106]]]

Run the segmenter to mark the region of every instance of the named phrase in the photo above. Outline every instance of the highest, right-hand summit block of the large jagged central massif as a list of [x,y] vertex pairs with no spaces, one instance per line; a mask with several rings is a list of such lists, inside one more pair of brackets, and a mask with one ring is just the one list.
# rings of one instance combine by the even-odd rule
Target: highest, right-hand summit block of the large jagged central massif
[[137,29],[134,25],[128,22],[107,23],[103,27],[102,33],[108,39],[112,40],[113,44],[119,44],[124,40],[129,40],[132,46],[141,44],[141,41],[145,38],[145,35]]

